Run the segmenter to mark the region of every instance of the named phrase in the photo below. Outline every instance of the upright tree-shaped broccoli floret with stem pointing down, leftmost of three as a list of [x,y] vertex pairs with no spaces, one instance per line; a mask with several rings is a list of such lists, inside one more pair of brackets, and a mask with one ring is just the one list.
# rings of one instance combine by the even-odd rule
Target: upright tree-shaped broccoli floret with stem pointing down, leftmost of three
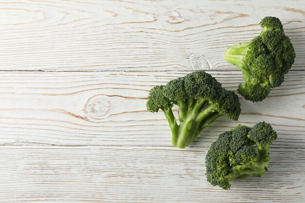
[[[178,105],[179,125],[172,113],[173,104]],[[172,130],[172,145],[185,148],[200,135],[200,131],[222,115],[237,120],[241,111],[238,96],[221,87],[210,74],[193,72],[155,86],[149,92],[147,109],[161,109]]]

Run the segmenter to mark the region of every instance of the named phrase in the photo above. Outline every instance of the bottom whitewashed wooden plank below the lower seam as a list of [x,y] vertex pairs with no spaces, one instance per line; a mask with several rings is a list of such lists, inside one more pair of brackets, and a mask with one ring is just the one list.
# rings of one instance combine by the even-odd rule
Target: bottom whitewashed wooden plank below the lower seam
[[208,148],[0,147],[0,202],[287,203],[304,202],[305,151],[271,148],[263,177],[205,177]]

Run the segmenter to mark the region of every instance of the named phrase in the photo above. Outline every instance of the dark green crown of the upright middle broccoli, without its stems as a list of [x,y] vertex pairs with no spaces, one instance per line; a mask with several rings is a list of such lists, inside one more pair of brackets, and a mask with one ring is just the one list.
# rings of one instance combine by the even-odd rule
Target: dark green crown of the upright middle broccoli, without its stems
[[210,74],[193,72],[173,79],[166,86],[156,86],[149,93],[147,109],[157,112],[162,108],[172,108],[172,104],[185,101],[189,97],[205,100],[213,105],[214,111],[237,120],[241,112],[238,96],[229,92]]

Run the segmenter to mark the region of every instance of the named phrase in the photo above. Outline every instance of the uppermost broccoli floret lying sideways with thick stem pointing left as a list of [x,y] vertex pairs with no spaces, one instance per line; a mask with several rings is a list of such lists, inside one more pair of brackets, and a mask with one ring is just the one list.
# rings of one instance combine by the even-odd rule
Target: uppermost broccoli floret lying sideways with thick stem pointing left
[[279,18],[266,17],[260,24],[264,30],[259,36],[229,47],[225,54],[226,61],[244,75],[238,92],[253,102],[262,101],[271,88],[281,86],[296,56]]

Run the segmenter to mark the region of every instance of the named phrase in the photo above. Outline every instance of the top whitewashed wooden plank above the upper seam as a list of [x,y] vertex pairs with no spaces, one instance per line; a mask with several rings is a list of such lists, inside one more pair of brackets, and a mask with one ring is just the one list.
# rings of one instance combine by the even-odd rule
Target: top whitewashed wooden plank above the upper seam
[[[225,50],[284,23],[304,70],[302,0],[19,0],[0,2],[0,70],[237,70]],[[191,61],[191,64],[190,64]]]

